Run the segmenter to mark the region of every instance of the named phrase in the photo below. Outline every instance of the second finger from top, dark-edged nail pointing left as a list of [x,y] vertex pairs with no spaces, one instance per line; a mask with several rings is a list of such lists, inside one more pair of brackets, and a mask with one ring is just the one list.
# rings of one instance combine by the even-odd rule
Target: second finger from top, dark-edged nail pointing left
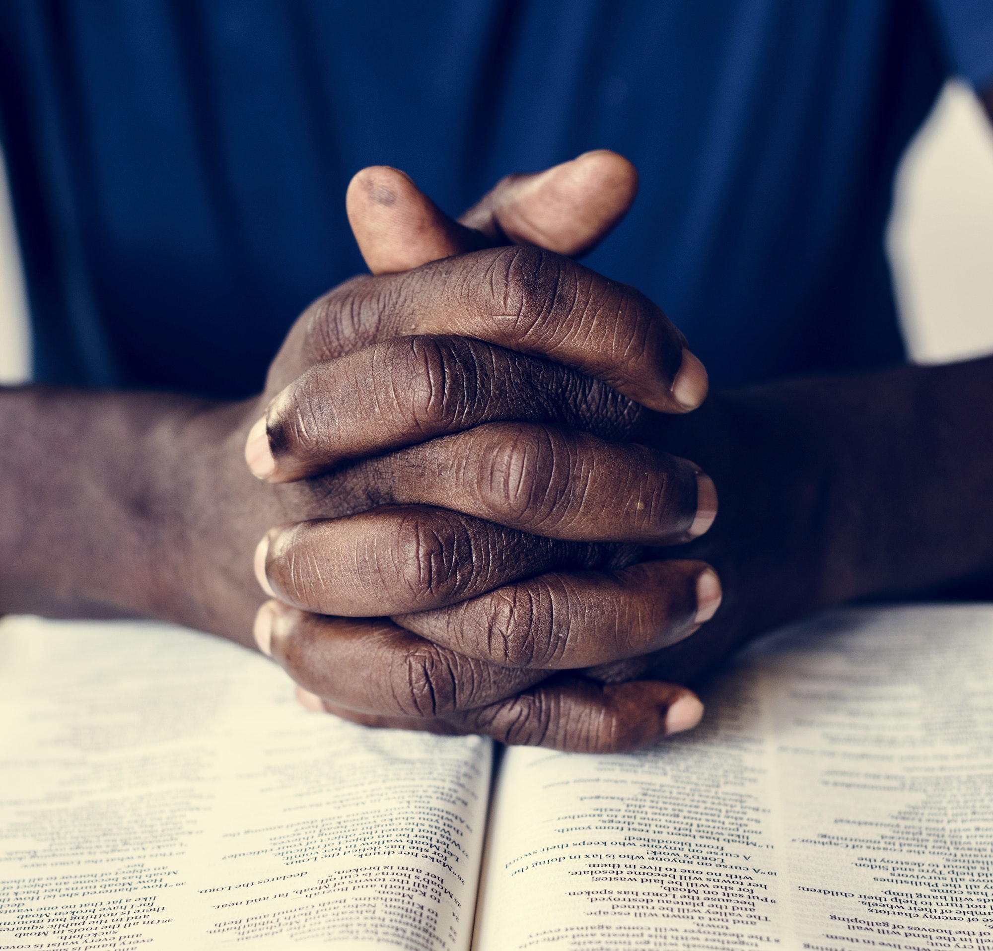
[[484,423],[552,423],[631,440],[644,408],[601,380],[482,340],[385,340],[302,373],[273,398],[267,481],[296,481]]

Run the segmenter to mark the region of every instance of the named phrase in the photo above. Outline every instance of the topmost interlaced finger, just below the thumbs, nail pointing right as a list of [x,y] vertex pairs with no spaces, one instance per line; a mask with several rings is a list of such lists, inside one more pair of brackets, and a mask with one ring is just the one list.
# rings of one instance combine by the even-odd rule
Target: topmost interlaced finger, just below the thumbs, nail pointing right
[[347,281],[300,318],[266,388],[282,389],[315,363],[417,334],[547,357],[661,412],[686,412],[706,394],[706,374],[696,366],[688,395],[674,390],[684,342],[655,304],[570,258],[527,246]]

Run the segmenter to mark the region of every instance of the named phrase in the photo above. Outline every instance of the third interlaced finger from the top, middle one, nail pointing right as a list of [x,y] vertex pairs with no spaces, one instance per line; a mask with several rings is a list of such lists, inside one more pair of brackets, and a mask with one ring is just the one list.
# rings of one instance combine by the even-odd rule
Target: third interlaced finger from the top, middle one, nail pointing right
[[336,516],[436,505],[566,541],[679,544],[716,511],[710,479],[686,460],[524,423],[488,423],[356,463],[322,485]]

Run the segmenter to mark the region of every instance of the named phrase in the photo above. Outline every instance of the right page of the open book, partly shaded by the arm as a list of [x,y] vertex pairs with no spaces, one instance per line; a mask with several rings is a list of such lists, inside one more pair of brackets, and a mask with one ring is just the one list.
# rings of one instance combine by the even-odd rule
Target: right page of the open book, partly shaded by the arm
[[993,608],[825,615],[692,734],[515,748],[476,951],[993,947]]

